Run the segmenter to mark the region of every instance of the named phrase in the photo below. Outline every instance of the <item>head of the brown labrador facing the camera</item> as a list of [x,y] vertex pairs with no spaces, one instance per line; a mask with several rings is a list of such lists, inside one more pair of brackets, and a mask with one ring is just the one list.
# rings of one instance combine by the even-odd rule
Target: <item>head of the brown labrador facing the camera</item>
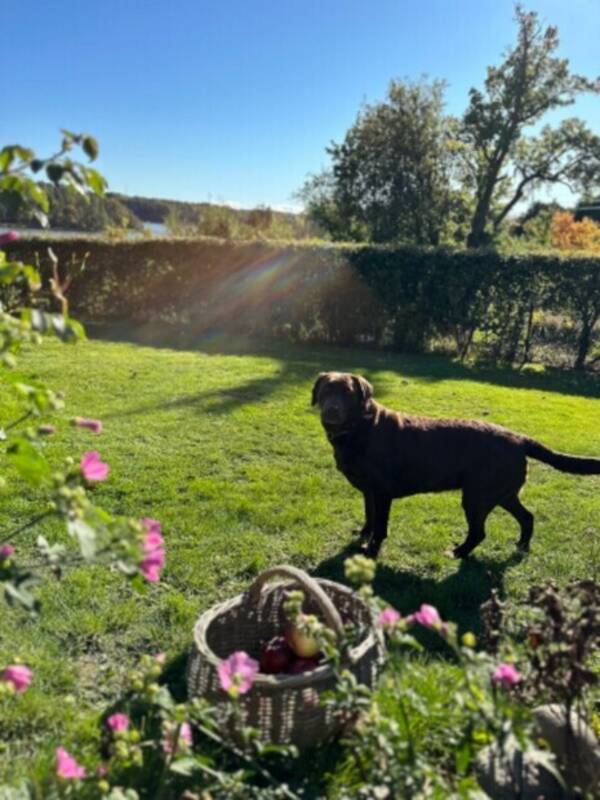
[[361,375],[321,372],[315,381],[312,404],[318,405],[325,428],[345,428],[368,412],[373,387]]

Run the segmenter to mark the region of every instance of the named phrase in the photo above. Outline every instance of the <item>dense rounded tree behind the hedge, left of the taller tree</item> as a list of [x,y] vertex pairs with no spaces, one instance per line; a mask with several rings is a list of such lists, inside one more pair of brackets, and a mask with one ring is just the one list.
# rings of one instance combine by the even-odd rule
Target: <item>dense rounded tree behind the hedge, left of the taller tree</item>
[[443,94],[440,81],[392,81],[384,102],[366,105],[343,142],[327,148],[331,169],[300,193],[311,219],[334,239],[437,244],[454,141]]

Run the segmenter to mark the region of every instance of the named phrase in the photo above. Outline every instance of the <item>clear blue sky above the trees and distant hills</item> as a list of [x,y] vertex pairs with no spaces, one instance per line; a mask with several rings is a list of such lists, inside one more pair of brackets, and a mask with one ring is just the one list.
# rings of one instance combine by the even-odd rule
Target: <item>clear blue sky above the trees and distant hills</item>
[[[530,0],[600,74],[600,0]],[[0,0],[0,143],[93,133],[110,188],[289,204],[363,100],[444,78],[459,114],[515,39],[512,0]],[[600,98],[577,114],[600,132]]]

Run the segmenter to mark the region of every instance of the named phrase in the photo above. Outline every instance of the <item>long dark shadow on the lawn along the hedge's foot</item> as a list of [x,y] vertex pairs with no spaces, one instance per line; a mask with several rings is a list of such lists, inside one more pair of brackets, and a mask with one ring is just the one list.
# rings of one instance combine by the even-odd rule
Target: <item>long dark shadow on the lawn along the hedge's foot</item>
[[[469,365],[439,355],[412,355],[386,350],[343,348],[322,344],[274,343],[248,338],[226,336],[217,331],[197,336],[189,330],[164,324],[111,325],[89,324],[92,338],[113,342],[129,342],[148,347],[200,351],[219,355],[264,355],[279,359],[279,376],[240,386],[242,402],[254,402],[265,397],[282,382],[308,380],[324,370],[359,371],[381,385],[380,372],[395,372],[399,376],[421,381],[469,380],[514,389],[535,389],[558,394],[600,397],[600,376],[597,373],[545,367],[541,371],[517,370],[492,366]],[[235,390],[228,392],[233,395]],[[249,400],[247,398],[250,398]],[[190,398],[193,402],[193,398]],[[232,402],[231,405],[234,403]],[[228,404],[226,404],[228,405]]]

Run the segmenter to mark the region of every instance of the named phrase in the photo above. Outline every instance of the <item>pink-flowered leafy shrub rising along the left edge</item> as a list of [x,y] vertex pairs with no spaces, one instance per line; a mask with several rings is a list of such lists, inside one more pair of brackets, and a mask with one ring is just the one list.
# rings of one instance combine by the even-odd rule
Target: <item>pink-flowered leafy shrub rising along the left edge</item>
[[[96,140],[88,135],[63,132],[59,151],[47,159],[21,146],[0,150],[0,189],[10,190],[21,202],[34,210],[45,224],[48,199],[34,176],[45,171],[55,185],[71,185],[80,191],[102,193],[105,181],[87,165],[73,161],[68,155],[81,147],[90,160],[98,154]],[[82,327],[69,316],[66,291],[69,279],[62,279],[58,261],[51,249],[53,272],[49,280],[52,302],[58,313],[46,310],[39,295],[40,276],[37,270],[20,261],[9,261],[3,250],[14,243],[18,234],[0,236],[0,366],[12,369],[19,349],[25,344],[38,344],[44,335],[53,334],[65,342],[83,338]],[[22,307],[25,296],[33,297],[33,306]],[[44,452],[44,439],[59,435],[59,426],[42,418],[63,407],[60,393],[40,385],[13,382],[22,404],[21,414],[0,427],[0,442],[6,457],[17,474],[35,487],[47,492],[47,505],[30,520],[10,531],[0,531],[0,589],[8,602],[20,603],[30,611],[38,608],[32,592],[46,574],[45,568],[59,576],[65,566],[83,561],[102,561],[115,566],[131,578],[143,576],[150,582],[159,580],[165,562],[164,541],[156,520],[135,520],[113,517],[92,502],[90,488],[105,481],[109,464],[96,450],[84,452],[78,463],[67,459],[61,466],[51,465]],[[95,435],[102,433],[101,420],[75,417],[72,424]],[[5,473],[5,470],[2,470]],[[5,483],[4,475],[0,482]],[[44,521],[60,517],[75,545],[74,552],[60,544],[49,543],[41,534]],[[21,552],[13,544],[25,531],[37,532],[36,561],[20,566]]]

